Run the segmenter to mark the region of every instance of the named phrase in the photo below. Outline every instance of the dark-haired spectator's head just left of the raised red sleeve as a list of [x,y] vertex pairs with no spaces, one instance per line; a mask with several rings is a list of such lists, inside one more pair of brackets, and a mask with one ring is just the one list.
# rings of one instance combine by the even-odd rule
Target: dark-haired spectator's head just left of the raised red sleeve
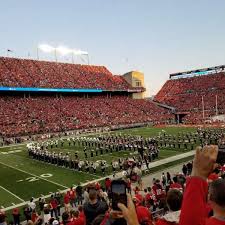
[[167,193],[166,203],[170,211],[181,209],[183,194],[177,189],[170,189]]

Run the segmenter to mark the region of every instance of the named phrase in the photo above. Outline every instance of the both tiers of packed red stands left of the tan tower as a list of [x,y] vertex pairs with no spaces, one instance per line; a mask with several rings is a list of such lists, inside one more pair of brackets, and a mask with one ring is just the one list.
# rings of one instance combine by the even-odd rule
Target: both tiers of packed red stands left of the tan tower
[[[101,89],[102,94],[2,92],[0,135],[21,136],[111,125],[167,121],[171,114],[148,100],[104,66],[0,57],[0,86]],[[139,88],[140,89],[140,88]]]

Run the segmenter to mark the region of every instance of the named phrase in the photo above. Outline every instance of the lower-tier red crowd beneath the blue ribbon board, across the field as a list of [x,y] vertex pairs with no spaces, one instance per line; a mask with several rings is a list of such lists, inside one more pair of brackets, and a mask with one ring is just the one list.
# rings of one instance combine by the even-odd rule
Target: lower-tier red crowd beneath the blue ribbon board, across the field
[[0,135],[50,133],[140,122],[167,121],[172,115],[148,100],[105,95],[0,97]]

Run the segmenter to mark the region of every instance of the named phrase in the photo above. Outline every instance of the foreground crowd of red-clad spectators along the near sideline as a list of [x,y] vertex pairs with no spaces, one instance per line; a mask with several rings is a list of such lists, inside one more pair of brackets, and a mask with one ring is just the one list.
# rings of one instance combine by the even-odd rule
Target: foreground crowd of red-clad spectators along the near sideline
[[[104,187],[98,182],[86,187],[78,184],[50,199],[40,198],[37,203],[31,199],[23,214],[29,225],[224,225],[225,165],[215,164],[217,154],[217,146],[197,148],[193,164],[184,164],[182,172],[173,177],[162,173],[144,190],[134,186],[127,206],[118,204],[119,212],[111,208],[107,178]],[[130,187],[129,180],[125,182]],[[12,224],[19,225],[18,208],[12,215]],[[6,221],[0,210],[0,224],[7,225]]]

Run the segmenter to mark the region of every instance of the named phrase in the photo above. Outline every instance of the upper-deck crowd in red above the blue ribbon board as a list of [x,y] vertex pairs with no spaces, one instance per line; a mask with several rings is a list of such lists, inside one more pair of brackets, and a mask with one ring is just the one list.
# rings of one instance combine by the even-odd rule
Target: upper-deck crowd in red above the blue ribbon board
[[128,90],[122,76],[104,66],[0,57],[0,86]]

